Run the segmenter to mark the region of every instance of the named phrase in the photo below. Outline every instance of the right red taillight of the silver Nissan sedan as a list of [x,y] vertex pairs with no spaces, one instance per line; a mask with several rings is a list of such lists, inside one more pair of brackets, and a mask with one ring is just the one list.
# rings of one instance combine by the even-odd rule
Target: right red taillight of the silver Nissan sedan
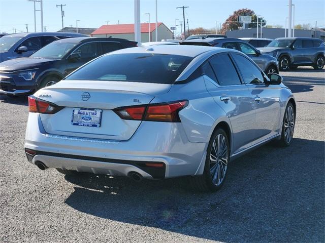
[[178,112],[186,107],[187,104],[187,100],[182,100],[171,103],[120,107],[114,111],[122,119],[167,121],[171,123],[179,123],[181,120],[179,118]]

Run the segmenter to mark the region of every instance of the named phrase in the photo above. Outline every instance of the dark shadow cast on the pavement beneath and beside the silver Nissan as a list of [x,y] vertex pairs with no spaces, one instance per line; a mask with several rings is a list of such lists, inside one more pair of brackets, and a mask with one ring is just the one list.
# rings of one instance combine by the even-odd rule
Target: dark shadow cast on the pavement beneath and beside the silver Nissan
[[295,138],[286,148],[259,147],[230,164],[216,193],[192,191],[185,178],[66,176],[75,190],[65,203],[108,220],[222,242],[322,241],[324,146]]

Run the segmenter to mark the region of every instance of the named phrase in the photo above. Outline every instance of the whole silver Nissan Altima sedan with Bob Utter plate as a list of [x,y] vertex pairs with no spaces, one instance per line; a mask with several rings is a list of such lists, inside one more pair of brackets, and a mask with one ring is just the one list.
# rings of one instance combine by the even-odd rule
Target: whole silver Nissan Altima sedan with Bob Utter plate
[[290,145],[296,102],[245,54],[203,46],[118,50],[28,97],[28,161],[128,176],[187,176],[216,191],[230,161],[271,140]]

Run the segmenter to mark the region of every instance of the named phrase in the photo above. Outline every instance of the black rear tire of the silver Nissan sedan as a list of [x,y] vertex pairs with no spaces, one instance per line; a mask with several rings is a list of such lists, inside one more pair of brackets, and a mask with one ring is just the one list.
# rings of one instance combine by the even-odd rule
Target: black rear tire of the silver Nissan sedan
[[[215,163],[215,173],[212,173],[212,175],[210,174],[210,166],[211,164],[214,164],[214,162],[212,160],[210,160],[210,156],[211,156],[211,153],[214,153],[212,151],[212,147],[213,147],[213,143],[215,142],[215,139],[217,138],[220,138],[218,137],[220,135],[220,137],[224,138],[225,139],[225,145],[226,145],[226,157],[227,157],[227,160],[226,160],[226,165],[225,163],[222,161],[224,160],[221,160],[221,159],[216,159],[216,163]],[[216,151],[216,150],[214,150]],[[217,155],[217,154],[216,154]],[[219,157],[219,156],[218,156]],[[222,157],[221,157],[222,158]],[[225,179],[226,179],[226,176],[227,176],[227,172],[228,172],[228,167],[229,167],[229,158],[230,158],[230,146],[229,146],[229,139],[228,139],[228,136],[226,135],[226,133],[224,132],[223,129],[221,128],[218,128],[216,129],[212,136],[211,136],[211,139],[210,139],[210,142],[209,142],[209,145],[208,145],[208,149],[207,149],[207,157],[206,157],[206,161],[205,161],[205,167],[204,167],[204,172],[203,172],[203,175],[201,176],[191,176],[189,177],[189,184],[191,185],[191,187],[195,190],[199,190],[199,191],[210,191],[210,192],[215,192],[217,190],[219,190]],[[222,158],[224,159],[224,158]],[[221,161],[221,162],[220,162]],[[221,167],[222,165],[222,167]],[[225,165],[225,167],[224,167]],[[220,170],[219,167],[220,167]],[[212,166],[211,168],[213,168],[214,166]],[[222,170],[221,168],[225,168],[225,171]],[[215,177],[215,175],[218,173],[217,172],[220,172],[220,178],[221,176],[223,175],[223,179],[222,181],[219,183],[219,184],[215,184],[212,180],[212,176]],[[221,173],[221,170],[223,173]],[[218,180],[219,177],[216,178],[216,180]]]

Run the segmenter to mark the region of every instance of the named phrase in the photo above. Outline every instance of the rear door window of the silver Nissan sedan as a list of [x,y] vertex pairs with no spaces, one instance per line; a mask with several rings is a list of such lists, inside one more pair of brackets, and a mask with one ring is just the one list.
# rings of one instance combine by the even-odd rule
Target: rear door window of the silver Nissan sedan
[[221,54],[211,58],[210,64],[217,77],[219,85],[241,84],[236,68],[228,54]]

